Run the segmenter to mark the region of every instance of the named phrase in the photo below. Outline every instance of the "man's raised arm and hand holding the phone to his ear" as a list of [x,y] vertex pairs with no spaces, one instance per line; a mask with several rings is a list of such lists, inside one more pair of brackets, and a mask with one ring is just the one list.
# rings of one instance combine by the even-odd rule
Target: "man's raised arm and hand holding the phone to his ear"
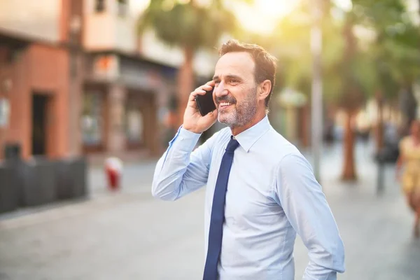
[[154,197],[162,200],[177,200],[207,183],[211,151],[217,134],[194,152],[193,149],[202,132],[208,130],[216,122],[217,112],[213,111],[207,116],[201,116],[195,97],[197,94],[205,94],[205,90],[211,90],[213,86],[214,82],[211,81],[191,92],[184,113],[183,125],[156,166],[152,186]]

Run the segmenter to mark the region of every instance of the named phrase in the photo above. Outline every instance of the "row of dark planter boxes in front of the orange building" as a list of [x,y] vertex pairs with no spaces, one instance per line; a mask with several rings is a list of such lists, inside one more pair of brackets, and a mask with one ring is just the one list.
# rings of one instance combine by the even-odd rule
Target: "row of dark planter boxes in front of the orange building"
[[0,213],[86,195],[86,158],[0,162]]

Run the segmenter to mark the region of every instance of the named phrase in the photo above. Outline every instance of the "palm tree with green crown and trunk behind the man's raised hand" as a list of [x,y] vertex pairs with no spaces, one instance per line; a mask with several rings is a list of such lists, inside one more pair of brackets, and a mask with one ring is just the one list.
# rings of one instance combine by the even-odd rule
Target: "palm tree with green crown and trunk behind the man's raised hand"
[[214,48],[225,32],[237,27],[235,16],[223,6],[222,0],[200,5],[195,0],[151,0],[139,18],[139,34],[149,27],[158,38],[183,50],[184,61],[178,76],[178,111],[182,121],[188,96],[194,88],[193,58],[200,48]]

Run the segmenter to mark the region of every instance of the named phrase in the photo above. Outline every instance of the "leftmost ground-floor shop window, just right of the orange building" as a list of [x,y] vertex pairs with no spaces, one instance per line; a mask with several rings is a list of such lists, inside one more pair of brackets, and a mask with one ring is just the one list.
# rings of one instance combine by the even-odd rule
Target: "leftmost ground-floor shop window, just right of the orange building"
[[89,92],[83,97],[82,137],[85,146],[102,144],[102,94]]

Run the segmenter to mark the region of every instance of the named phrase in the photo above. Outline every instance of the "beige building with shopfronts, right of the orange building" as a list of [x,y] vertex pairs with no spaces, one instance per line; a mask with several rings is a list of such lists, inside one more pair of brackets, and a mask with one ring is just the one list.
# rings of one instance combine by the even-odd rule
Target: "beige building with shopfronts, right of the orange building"
[[160,109],[175,86],[176,66],[141,55],[138,15],[128,1],[86,0],[83,10],[83,153],[99,160],[158,155]]

